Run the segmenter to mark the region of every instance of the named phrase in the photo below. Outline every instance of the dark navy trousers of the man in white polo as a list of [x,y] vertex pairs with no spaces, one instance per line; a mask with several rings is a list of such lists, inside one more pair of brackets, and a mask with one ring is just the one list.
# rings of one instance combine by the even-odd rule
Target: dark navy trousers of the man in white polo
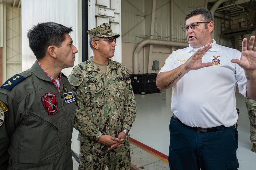
[[201,133],[171,117],[169,166],[171,170],[237,170],[238,132],[234,126]]

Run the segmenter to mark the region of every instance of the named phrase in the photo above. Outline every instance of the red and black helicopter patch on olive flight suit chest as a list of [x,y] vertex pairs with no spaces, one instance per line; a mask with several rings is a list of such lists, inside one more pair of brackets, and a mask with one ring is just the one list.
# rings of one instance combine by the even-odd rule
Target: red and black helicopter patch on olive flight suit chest
[[58,112],[57,106],[58,106],[58,101],[56,99],[56,95],[48,92],[45,93],[42,96],[42,102],[44,108],[47,110],[48,115],[52,115]]

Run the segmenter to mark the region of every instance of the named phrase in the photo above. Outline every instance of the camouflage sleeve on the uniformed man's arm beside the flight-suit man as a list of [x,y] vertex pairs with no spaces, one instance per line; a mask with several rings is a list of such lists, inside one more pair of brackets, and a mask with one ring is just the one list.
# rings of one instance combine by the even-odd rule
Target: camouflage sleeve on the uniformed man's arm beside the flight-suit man
[[85,94],[83,88],[83,76],[79,67],[74,67],[70,76],[70,84],[72,85],[73,92],[75,94],[75,104],[76,104],[76,113],[74,118],[74,128],[78,130],[81,134],[88,136],[92,140],[97,141],[102,133],[97,129],[89,116],[86,113],[85,109]]

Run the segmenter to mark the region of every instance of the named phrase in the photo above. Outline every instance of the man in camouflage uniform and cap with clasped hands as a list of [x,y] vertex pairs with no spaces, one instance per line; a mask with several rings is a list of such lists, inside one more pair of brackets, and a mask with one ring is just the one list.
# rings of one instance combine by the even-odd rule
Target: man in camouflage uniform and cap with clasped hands
[[76,95],[79,169],[130,169],[128,131],[136,117],[136,103],[127,69],[110,60],[120,35],[108,23],[88,34],[94,56],[75,66],[69,76]]

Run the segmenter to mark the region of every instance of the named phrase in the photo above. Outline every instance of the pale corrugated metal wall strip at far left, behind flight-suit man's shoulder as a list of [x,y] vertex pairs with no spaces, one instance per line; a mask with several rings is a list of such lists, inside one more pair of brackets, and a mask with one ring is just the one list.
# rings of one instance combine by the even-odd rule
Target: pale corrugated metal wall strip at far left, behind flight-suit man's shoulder
[[21,9],[6,5],[6,79],[21,72]]

